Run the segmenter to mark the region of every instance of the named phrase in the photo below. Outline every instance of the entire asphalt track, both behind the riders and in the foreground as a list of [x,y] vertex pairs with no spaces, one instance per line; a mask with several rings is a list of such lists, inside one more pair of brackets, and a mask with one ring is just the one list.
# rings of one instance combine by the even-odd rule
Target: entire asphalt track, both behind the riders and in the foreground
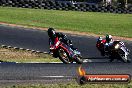
[[[100,56],[95,47],[95,37],[67,35],[73,41],[74,46],[81,51],[82,56],[92,61],[92,63],[86,62],[82,65],[88,74],[132,75],[132,63],[116,61],[110,63],[108,59]],[[132,51],[132,42],[123,41]],[[45,31],[3,25],[0,25],[0,44],[42,52],[48,52],[49,50],[48,36]],[[130,53],[130,58],[132,58],[132,53]],[[63,63],[1,63],[0,83],[11,83],[14,80],[17,80],[17,82],[21,82],[21,80],[39,80],[43,82],[47,79],[54,79],[54,81],[66,79],[68,81],[68,79],[77,77],[78,67],[77,64]]]

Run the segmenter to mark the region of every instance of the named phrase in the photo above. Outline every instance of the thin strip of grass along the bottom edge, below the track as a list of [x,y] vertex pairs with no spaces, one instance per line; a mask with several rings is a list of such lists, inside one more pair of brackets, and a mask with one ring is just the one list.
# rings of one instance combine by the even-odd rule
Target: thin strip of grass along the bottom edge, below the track
[[66,84],[31,84],[31,85],[13,85],[6,88],[132,88],[130,84],[85,84],[78,85],[77,83]]

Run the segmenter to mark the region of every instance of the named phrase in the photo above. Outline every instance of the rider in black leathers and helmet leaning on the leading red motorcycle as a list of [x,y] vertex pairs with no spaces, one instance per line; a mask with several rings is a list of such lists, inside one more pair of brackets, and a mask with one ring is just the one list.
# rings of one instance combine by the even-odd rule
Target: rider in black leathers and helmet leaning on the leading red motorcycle
[[56,38],[58,37],[58,39],[60,41],[62,41],[66,45],[70,46],[73,50],[75,49],[75,48],[73,48],[72,41],[69,40],[66,35],[64,35],[60,32],[56,32],[54,28],[49,28],[47,32],[48,32],[48,36],[49,36],[49,44],[54,44]]

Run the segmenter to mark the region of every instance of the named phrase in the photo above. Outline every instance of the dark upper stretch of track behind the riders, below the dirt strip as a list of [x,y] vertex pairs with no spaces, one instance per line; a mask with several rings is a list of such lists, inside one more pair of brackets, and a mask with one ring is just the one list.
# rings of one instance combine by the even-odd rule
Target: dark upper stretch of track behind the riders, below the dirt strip
[[[100,57],[95,47],[97,38],[69,35],[75,47],[82,52],[84,57]],[[0,25],[0,44],[33,49],[39,51],[49,51],[48,35],[46,31],[24,29]],[[132,42],[126,42],[127,47],[132,51]]]

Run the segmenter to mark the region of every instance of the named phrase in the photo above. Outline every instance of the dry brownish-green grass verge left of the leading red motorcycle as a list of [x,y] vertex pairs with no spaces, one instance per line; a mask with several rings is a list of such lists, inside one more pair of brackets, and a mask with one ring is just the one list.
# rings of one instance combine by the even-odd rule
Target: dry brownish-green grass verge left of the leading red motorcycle
[[0,61],[3,62],[60,62],[59,59],[42,53],[0,48]]

